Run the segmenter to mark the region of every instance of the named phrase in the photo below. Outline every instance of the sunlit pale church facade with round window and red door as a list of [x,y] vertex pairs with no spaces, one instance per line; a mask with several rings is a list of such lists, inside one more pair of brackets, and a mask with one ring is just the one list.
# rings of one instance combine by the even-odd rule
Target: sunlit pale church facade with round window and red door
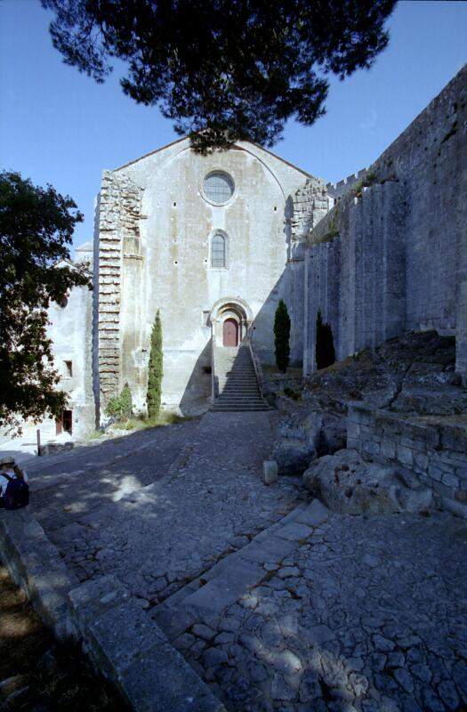
[[128,383],[144,412],[157,312],[165,409],[207,408],[213,347],[251,336],[259,360],[274,361],[274,313],[294,289],[284,276],[297,259],[292,196],[307,182],[326,192],[252,143],[201,156],[189,139],[103,174],[94,238],[101,409]]

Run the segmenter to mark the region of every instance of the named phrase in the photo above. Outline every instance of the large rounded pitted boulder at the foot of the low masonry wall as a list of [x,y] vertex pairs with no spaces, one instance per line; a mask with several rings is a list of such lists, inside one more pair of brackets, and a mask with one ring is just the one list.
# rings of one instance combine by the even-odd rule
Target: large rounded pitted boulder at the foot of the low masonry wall
[[319,457],[303,474],[307,490],[334,512],[418,512],[431,506],[431,490],[394,465],[364,461],[356,450]]

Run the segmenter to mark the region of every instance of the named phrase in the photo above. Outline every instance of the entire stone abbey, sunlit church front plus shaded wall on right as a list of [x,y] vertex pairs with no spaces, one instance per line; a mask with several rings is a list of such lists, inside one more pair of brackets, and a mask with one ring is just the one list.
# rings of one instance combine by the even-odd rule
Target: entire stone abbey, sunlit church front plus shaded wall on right
[[92,431],[125,383],[144,412],[157,311],[163,407],[182,414],[221,402],[238,352],[261,401],[279,299],[304,376],[318,311],[337,359],[434,328],[456,335],[467,376],[466,85],[464,67],[373,166],[336,185],[249,142],[203,157],[181,139],[105,171],[93,243],[76,250],[93,293],[76,287],[51,307],[70,399],[47,427]]

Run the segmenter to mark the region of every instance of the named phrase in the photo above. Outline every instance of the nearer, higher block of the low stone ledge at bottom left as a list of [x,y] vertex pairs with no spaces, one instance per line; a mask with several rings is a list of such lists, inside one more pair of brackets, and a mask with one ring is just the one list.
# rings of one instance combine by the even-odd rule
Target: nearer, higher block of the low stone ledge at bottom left
[[93,664],[135,712],[225,712],[117,578],[94,579],[69,597]]

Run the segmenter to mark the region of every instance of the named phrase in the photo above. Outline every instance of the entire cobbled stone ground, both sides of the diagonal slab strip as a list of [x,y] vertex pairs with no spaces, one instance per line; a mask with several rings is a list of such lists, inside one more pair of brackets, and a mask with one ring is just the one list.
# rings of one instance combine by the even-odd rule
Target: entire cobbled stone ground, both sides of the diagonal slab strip
[[270,417],[54,460],[36,514],[81,580],[131,588],[230,712],[465,712],[467,522],[329,515],[293,478],[264,486]]

